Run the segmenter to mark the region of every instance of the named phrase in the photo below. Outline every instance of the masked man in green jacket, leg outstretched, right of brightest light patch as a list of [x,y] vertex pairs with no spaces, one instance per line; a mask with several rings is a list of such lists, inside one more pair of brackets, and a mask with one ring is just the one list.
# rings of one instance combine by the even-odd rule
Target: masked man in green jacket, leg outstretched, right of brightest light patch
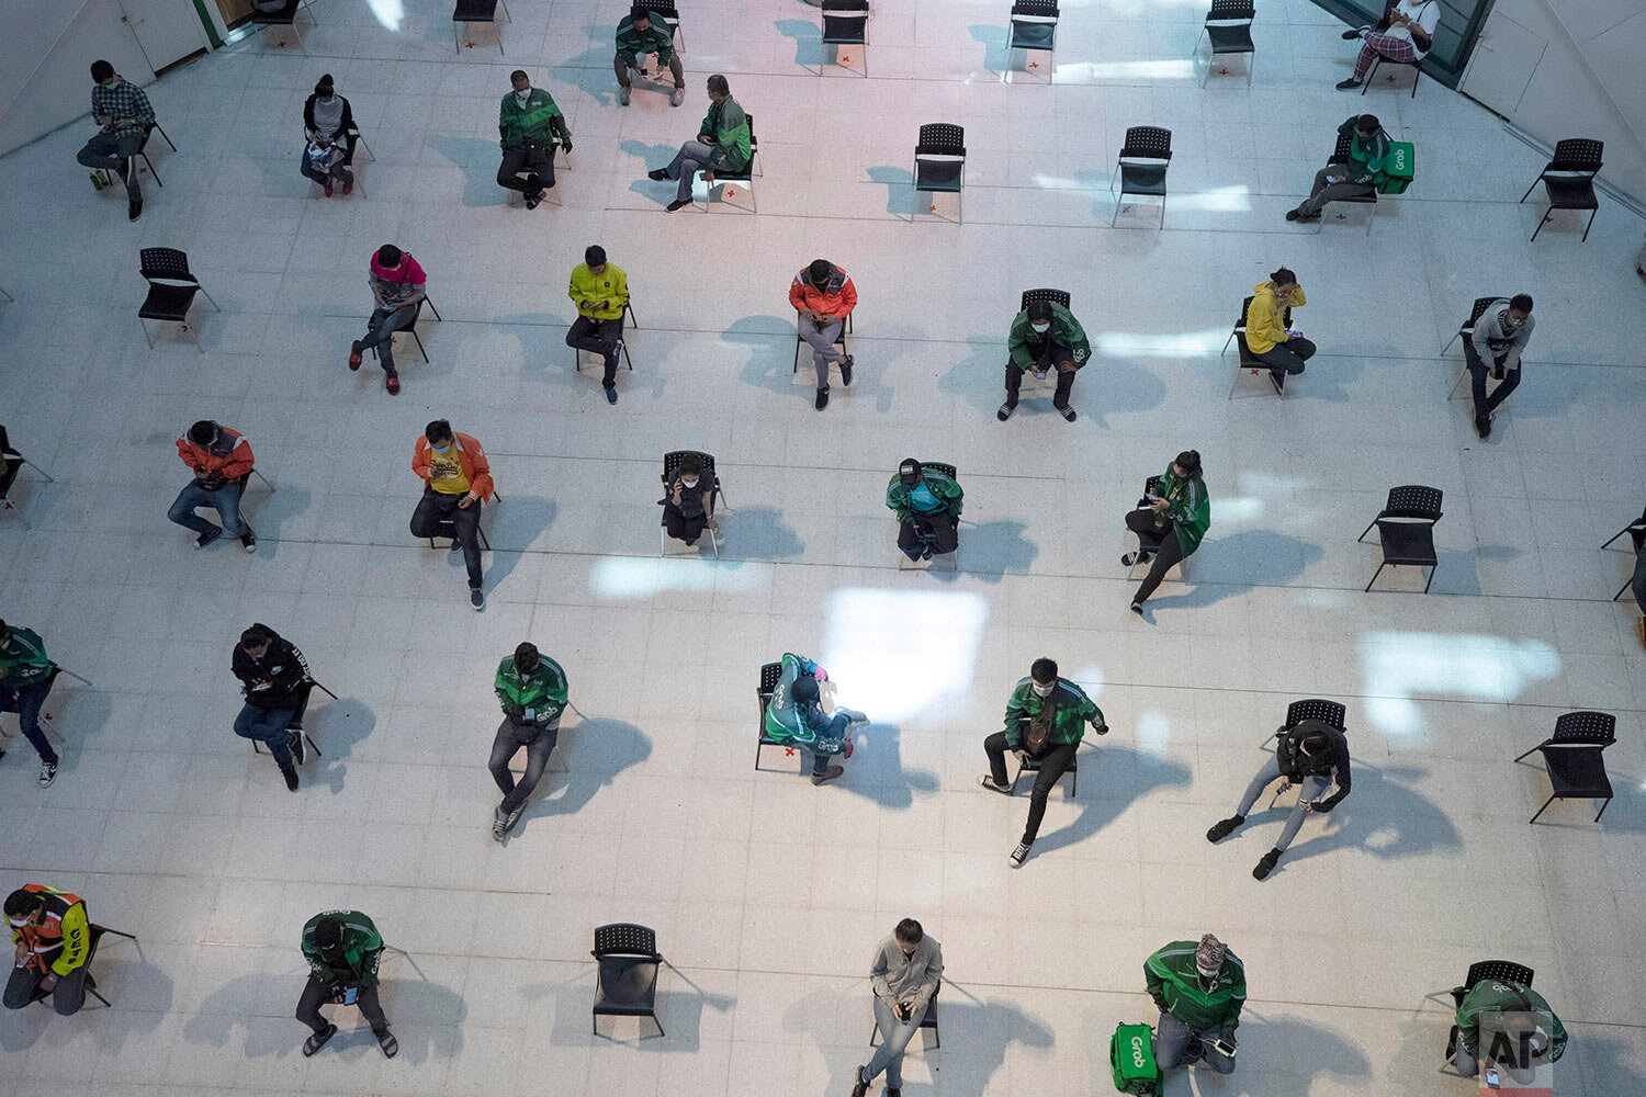
[[1075,752],[1086,734],[1086,720],[1098,735],[1108,735],[1109,725],[1103,709],[1075,683],[1058,678],[1053,660],[1039,658],[1029,664],[1029,678],[1019,679],[1006,701],[1006,727],[983,740],[983,753],[989,757],[989,771],[978,783],[991,793],[1012,794],[1006,776],[1006,752],[1017,755],[1019,773],[1030,761],[1039,761],[1034,789],[1029,793],[1029,821],[1024,835],[1006,855],[1012,868],[1029,857],[1040,821],[1045,817],[1045,799],[1057,783],[1075,765]]

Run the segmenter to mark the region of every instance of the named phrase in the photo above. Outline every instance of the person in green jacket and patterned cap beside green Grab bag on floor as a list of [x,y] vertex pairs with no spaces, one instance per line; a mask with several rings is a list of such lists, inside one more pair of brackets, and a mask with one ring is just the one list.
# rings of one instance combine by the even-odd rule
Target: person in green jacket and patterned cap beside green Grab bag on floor
[[1246,965],[1210,933],[1172,941],[1144,960],[1142,977],[1160,1010],[1154,1061],[1160,1071],[1202,1064],[1234,1072],[1234,1028],[1246,1005]]

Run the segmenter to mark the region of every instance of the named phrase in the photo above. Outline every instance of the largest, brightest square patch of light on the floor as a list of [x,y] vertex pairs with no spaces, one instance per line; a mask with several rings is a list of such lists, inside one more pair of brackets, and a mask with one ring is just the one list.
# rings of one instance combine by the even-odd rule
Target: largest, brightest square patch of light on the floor
[[839,681],[841,704],[895,724],[971,689],[988,618],[989,605],[976,594],[836,590],[823,622],[823,651],[813,658]]

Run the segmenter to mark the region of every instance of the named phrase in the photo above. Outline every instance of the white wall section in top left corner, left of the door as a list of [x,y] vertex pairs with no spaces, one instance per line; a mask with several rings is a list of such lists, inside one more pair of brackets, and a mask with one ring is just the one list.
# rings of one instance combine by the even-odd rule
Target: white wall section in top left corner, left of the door
[[119,0],[0,0],[0,155],[91,113],[99,58],[155,81]]

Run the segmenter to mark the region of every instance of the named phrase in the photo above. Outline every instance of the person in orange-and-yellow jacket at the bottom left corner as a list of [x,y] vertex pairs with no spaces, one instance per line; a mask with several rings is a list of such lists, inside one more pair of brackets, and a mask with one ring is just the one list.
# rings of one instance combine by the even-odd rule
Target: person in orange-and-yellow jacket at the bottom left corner
[[86,967],[92,952],[86,900],[25,883],[5,896],[5,919],[16,946],[16,962],[5,984],[5,1008],[21,1010],[49,995],[58,1016],[79,1013],[86,988],[97,985]]

